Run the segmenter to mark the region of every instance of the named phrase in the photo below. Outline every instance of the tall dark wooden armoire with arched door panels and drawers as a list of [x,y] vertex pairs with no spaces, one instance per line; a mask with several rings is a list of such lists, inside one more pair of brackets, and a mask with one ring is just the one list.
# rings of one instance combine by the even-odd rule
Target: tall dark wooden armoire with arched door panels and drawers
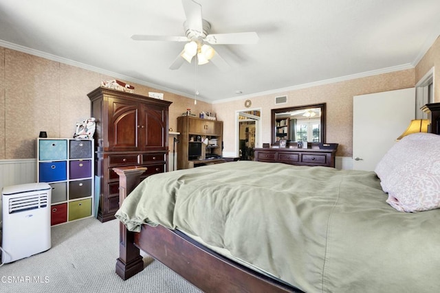
[[87,96],[91,116],[96,118],[98,220],[106,222],[119,209],[119,177],[113,167],[147,167],[142,178],[168,169],[168,108],[172,102],[104,87]]

